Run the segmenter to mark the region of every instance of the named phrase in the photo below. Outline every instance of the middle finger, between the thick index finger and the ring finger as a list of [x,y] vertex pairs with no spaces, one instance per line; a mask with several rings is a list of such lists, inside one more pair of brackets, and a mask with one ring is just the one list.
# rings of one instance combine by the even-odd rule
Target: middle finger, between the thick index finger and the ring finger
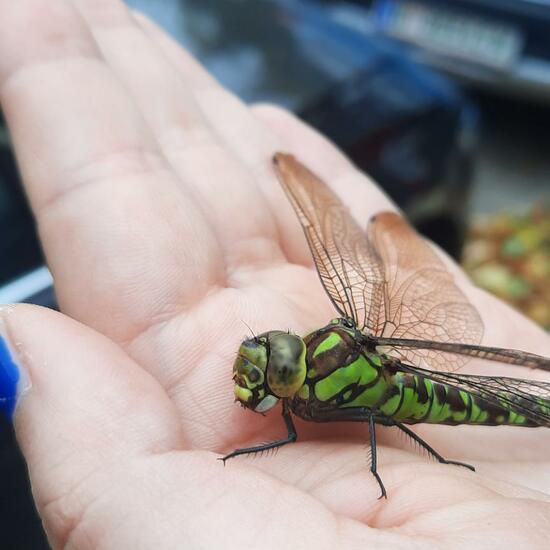
[[[216,228],[230,264],[255,263],[255,254],[242,254],[242,241],[249,243],[255,238],[276,243],[277,230],[252,174],[217,139],[188,82],[122,2],[74,2],[106,62],[124,83],[180,176],[185,192],[197,197],[210,225]],[[273,246],[269,253],[282,256]]]

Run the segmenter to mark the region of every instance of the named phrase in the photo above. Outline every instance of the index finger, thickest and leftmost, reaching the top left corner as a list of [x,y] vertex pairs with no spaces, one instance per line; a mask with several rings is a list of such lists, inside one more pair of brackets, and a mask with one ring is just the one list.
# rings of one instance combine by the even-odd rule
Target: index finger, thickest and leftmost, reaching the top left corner
[[217,241],[70,3],[0,0],[0,25],[0,98],[61,306],[130,341],[223,279]]

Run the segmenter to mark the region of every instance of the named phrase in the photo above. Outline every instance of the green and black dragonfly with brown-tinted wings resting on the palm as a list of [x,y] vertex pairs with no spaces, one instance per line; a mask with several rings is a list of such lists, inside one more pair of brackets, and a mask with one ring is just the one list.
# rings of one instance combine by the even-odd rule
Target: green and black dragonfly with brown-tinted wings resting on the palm
[[236,400],[265,414],[279,401],[286,437],[223,457],[297,440],[293,415],[311,422],[364,422],[370,471],[376,426],[404,432],[447,460],[408,426],[417,423],[550,428],[550,382],[457,372],[471,358],[550,370],[550,358],[481,346],[484,326],[435,250],[397,213],[361,229],[340,198],[289,154],[274,168],[292,204],[338,317],[301,337],[271,330],[245,339],[233,365]]

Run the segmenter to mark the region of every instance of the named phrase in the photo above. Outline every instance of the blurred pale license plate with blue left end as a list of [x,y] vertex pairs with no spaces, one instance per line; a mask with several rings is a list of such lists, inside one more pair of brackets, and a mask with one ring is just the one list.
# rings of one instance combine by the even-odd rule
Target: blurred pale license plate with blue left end
[[443,55],[506,69],[521,53],[521,33],[509,25],[401,0],[379,0],[374,15],[388,34]]

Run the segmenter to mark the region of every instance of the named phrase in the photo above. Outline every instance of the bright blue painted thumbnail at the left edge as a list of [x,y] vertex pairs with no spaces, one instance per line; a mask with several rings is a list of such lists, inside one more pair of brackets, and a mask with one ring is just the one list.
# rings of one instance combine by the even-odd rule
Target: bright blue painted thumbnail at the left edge
[[0,414],[12,419],[18,398],[30,387],[30,379],[19,360],[17,346],[12,345],[0,308]]

